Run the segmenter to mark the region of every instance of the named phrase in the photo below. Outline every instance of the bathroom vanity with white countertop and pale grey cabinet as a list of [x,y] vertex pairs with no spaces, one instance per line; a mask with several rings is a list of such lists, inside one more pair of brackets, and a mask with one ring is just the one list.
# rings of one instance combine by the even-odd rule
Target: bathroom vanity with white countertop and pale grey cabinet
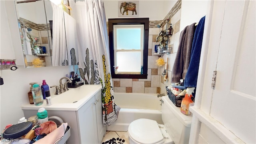
[[39,108],[45,108],[48,117],[58,116],[70,126],[70,138],[67,144],[96,144],[106,134],[102,124],[101,85],[83,85],[69,88],[68,91],[54,95],[51,93],[52,105],[46,102],[40,106],[25,104],[22,106],[24,116],[29,118],[37,114]]

